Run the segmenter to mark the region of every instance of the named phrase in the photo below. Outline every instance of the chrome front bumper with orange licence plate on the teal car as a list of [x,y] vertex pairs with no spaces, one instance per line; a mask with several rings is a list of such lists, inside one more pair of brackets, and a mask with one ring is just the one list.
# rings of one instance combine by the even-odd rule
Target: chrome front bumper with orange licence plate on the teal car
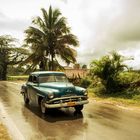
[[87,104],[89,101],[77,101],[77,102],[66,102],[66,103],[59,103],[59,104],[47,104],[45,103],[46,108],[63,108],[63,107],[74,107],[77,105]]

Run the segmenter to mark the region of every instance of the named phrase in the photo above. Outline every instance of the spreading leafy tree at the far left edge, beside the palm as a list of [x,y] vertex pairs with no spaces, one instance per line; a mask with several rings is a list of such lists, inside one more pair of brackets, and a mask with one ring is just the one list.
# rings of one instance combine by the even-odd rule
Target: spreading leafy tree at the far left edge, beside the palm
[[28,54],[25,49],[17,48],[15,42],[9,35],[0,36],[0,80],[6,80],[9,65],[19,64]]

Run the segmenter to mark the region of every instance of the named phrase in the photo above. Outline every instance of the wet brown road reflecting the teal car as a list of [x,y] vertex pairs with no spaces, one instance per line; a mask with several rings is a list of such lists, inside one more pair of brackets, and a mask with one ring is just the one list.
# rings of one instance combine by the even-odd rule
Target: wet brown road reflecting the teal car
[[20,85],[0,82],[0,102],[25,140],[140,140],[140,113],[91,100],[81,114],[71,108],[43,116],[19,92]]

